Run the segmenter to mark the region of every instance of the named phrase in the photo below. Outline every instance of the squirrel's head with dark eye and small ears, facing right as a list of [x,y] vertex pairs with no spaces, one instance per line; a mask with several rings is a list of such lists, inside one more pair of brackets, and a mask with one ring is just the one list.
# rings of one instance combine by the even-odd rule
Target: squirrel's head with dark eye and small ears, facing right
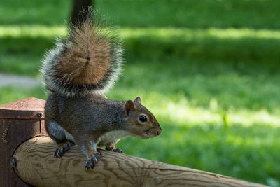
[[147,139],[157,137],[162,132],[155,116],[141,105],[141,98],[137,97],[134,102],[129,100],[125,103],[123,120],[127,130],[134,137]]

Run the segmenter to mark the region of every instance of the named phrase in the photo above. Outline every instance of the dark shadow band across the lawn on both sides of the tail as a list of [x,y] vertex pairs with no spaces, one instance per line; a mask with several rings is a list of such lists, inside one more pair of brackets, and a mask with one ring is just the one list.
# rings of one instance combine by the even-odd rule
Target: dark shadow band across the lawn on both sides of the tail
[[[48,37],[2,37],[0,39],[1,71],[7,73],[36,75],[40,60],[46,49],[53,46],[54,39]],[[215,67],[225,66],[237,69],[239,73],[255,71],[255,68],[269,70],[270,74],[278,74],[280,39],[218,39],[207,36],[192,37],[158,37],[138,36],[125,38],[125,56],[127,64],[139,62],[149,64],[156,61],[162,69],[173,65],[182,65],[182,71],[193,69],[195,64],[188,62],[193,59],[200,66],[213,64]],[[198,66],[196,66],[198,67]],[[202,71],[203,71],[202,67]],[[216,68],[213,68],[216,69]],[[217,69],[218,71],[218,69]],[[188,71],[188,74],[197,71]],[[204,71],[205,74],[216,71]]]

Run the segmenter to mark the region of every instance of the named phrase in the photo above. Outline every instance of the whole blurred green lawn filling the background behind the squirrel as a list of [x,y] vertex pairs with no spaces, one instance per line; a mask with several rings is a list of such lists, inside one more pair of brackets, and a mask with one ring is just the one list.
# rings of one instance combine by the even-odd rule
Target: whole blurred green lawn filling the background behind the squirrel
[[[159,137],[126,137],[125,153],[280,186],[280,1],[97,0],[124,40],[111,99],[155,114]],[[71,1],[0,1],[0,72],[38,77]],[[45,90],[6,86],[0,104]]]

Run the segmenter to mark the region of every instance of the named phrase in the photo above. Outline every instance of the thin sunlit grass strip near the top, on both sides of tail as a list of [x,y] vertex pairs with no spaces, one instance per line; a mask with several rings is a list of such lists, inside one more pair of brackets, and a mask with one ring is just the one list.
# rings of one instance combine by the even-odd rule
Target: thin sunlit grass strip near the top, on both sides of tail
[[[189,29],[189,28],[120,28],[120,37],[123,39],[151,36],[161,39],[179,37],[180,39],[207,38],[217,39],[280,39],[279,30],[269,29]],[[6,25],[0,26],[0,37],[55,37],[66,36],[67,29],[64,26],[46,25]]]

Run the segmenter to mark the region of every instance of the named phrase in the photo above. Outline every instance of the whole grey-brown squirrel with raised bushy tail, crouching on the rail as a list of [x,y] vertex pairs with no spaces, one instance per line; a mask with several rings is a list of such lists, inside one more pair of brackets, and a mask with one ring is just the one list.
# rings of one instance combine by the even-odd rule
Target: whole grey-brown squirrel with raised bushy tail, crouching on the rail
[[120,40],[92,16],[71,27],[65,40],[58,39],[42,60],[41,74],[50,91],[45,104],[45,129],[62,145],[61,157],[77,144],[86,157],[85,169],[93,169],[102,157],[97,146],[123,153],[116,143],[130,135],[147,139],[162,129],[155,116],[137,97],[128,101],[107,99],[105,93],[120,76],[123,64]]

